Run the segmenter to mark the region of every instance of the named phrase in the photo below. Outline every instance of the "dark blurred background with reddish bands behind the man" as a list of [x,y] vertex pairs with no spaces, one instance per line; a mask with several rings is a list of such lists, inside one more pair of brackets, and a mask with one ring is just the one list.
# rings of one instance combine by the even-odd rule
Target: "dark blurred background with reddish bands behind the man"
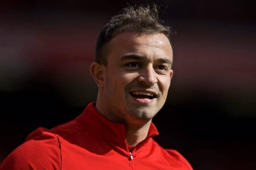
[[0,162],[37,127],[67,122],[96,100],[96,37],[127,2],[157,3],[177,31],[155,140],[195,170],[255,169],[256,12],[246,0],[1,3]]

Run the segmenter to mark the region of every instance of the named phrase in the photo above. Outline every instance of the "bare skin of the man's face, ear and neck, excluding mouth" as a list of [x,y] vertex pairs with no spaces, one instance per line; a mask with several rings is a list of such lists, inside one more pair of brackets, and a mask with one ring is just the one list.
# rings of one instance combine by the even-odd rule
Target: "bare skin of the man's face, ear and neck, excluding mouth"
[[[172,79],[172,46],[164,34],[117,34],[105,47],[108,65],[93,62],[90,72],[99,91],[96,109],[112,122],[125,124],[126,142],[137,145],[163,107]],[[137,99],[131,92],[151,92]]]

